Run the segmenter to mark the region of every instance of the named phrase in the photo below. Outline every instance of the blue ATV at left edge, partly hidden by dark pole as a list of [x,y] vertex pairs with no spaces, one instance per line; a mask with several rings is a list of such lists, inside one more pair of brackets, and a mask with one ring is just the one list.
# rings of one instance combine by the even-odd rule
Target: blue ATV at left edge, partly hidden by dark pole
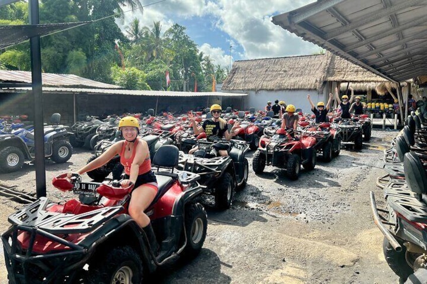
[[[68,142],[67,127],[59,125],[61,115],[53,114],[52,125],[44,126],[44,153],[55,163],[65,163],[73,153]],[[13,172],[22,167],[24,161],[34,161],[34,132],[25,128],[10,134],[0,134],[0,172]]]

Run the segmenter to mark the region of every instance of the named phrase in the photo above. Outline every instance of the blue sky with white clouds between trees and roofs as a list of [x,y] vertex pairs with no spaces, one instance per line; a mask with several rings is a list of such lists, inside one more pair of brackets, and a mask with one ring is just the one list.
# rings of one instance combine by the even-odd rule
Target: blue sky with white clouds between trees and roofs
[[[158,0],[140,0],[145,6]],[[315,2],[314,0],[166,0],[125,13],[124,26],[133,18],[144,26],[160,21],[162,31],[174,23],[209,54],[215,64],[228,67],[231,59],[312,54],[320,47],[306,42],[271,22],[271,17]]]

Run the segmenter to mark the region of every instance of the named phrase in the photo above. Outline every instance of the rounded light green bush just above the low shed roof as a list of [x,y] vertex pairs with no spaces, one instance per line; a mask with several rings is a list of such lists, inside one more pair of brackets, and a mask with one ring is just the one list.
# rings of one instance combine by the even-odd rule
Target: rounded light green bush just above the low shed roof
[[125,68],[111,67],[111,75],[115,84],[131,90],[150,90],[147,84],[147,75],[135,67]]

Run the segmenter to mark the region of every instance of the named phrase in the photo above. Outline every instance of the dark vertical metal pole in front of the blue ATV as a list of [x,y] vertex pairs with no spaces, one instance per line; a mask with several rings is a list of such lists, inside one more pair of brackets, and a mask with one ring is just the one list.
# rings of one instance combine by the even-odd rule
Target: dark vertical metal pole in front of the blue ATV
[[[29,1],[30,24],[39,24],[39,2]],[[44,166],[43,93],[41,80],[40,36],[30,38],[31,77],[34,97],[34,144],[36,163],[37,198],[46,196],[46,173]]]

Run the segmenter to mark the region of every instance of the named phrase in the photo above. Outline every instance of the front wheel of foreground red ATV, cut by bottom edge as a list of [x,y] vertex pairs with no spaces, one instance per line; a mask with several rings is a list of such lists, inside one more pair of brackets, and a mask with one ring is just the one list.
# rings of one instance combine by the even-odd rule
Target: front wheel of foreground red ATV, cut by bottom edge
[[144,276],[143,261],[130,246],[115,247],[93,261],[88,271],[91,284],[110,284],[119,282],[142,283]]

